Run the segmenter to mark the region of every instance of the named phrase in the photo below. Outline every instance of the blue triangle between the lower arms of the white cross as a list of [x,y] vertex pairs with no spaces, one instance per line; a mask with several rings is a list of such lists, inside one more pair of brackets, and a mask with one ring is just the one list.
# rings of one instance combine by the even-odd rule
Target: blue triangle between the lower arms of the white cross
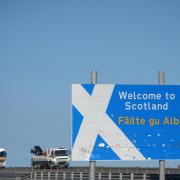
[[111,147],[98,135],[90,160],[120,160]]

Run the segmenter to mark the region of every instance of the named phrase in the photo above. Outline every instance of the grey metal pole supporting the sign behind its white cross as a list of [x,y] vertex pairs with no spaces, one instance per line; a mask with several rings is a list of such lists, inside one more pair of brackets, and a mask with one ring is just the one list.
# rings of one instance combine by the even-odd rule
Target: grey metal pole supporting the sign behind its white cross
[[[97,84],[97,71],[91,71],[91,84]],[[95,180],[96,175],[96,161],[90,161],[89,179]]]

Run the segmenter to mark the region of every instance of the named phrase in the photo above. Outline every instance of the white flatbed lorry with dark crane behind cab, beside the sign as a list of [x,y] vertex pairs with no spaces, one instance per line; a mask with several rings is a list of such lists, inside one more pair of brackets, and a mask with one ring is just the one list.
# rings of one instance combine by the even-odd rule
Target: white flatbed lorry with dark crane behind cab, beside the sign
[[34,168],[67,168],[69,166],[69,151],[64,147],[48,148],[43,152],[40,146],[34,146],[31,153],[34,154],[31,159]]

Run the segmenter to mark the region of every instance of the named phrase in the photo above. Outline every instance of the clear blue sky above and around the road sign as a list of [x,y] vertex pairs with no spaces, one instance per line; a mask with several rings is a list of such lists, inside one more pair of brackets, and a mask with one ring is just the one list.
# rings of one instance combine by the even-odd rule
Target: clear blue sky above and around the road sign
[[179,9],[178,0],[1,0],[0,146],[8,166],[29,166],[36,144],[70,148],[71,84],[89,83],[92,69],[99,83],[156,84],[164,70],[167,84],[180,84]]

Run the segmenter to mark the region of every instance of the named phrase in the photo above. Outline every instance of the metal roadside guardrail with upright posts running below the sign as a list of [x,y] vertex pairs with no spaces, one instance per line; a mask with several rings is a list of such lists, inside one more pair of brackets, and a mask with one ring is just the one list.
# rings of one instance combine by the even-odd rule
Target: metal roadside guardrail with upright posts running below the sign
[[[4,173],[4,177],[3,176]],[[158,168],[96,168],[96,180],[159,180]],[[88,167],[68,169],[5,168],[0,180],[89,180]],[[166,180],[180,180],[180,169],[166,169]]]

